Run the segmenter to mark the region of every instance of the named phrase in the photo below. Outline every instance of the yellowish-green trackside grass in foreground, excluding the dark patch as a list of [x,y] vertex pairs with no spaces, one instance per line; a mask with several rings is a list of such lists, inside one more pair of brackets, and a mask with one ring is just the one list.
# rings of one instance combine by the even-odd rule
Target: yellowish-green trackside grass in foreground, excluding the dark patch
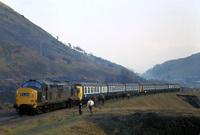
[[[83,107],[83,115],[79,115],[78,108],[64,109],[49,113],[45,117],[35,117],[35,119],[26,120],[19,125],[8,125],[0,127],[1,135],[105,135],[108,133],[117,134],[118,131],[108,132],[103,128],[104,116],[133,115],[137,118],[140,113],[155,113],[159,116],[171,117],[200,117],[199,109],[192,107],[183,101],[176,94],[200,96],[200,92],[190,93],[160,93],[147,96],[132,97],[130,99],[113,99],[106,101],[104,106],[98,104],[94,108],[94,115],[89,116],[89,110]],[[93,119],[95,118],[95,119]],[[99,121],[97,124],[96,120]],[[119,120],[120,121],[120,120]],[[121,120],[122,121],[122,120]],[[139,122],[139,121],[138,121]],[[141,123],[134,127],[134,130],[141,128]],[[123,132],[124,133],[124,132]],[[126,133],[125,133],[126,134]]]

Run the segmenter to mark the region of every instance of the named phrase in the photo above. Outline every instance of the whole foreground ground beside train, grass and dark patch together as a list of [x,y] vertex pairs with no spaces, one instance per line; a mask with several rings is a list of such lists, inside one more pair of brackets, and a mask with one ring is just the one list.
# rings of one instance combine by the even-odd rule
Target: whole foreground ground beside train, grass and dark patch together
[[162,93],[100,103],[90,116],[78,108],[62,109],[0,127],[1,135],[118,135],[118,134],[199,134],[199,108],[177,94],[200,96],[200,91]]

